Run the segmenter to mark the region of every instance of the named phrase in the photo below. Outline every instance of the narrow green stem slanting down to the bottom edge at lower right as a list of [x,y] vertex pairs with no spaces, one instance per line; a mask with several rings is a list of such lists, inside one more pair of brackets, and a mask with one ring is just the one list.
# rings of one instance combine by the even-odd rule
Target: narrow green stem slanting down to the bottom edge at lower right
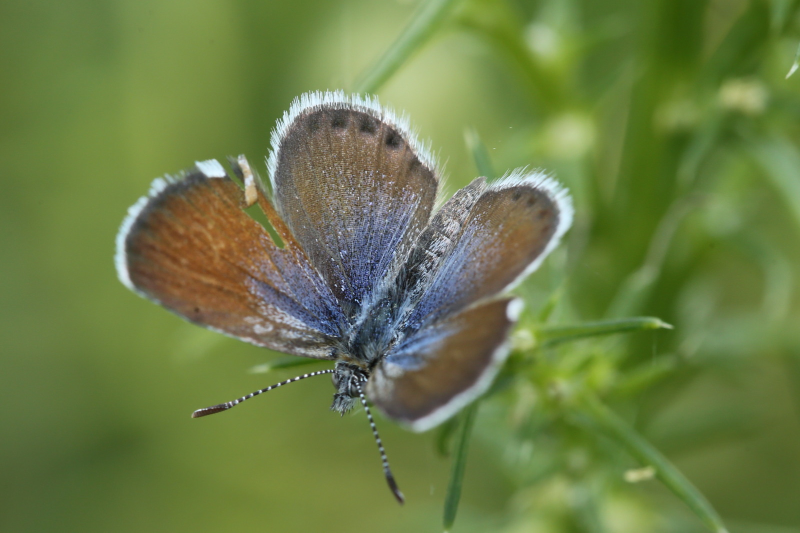
[[642,466],[653,467],[656,477],[682,499],[710,531],[727,533],[722,518],[706,497],[660,451],[594,396],[586,395],[583,400],[582,405],[586,408],[584,414],[589,415],[604,434],[625,447]]

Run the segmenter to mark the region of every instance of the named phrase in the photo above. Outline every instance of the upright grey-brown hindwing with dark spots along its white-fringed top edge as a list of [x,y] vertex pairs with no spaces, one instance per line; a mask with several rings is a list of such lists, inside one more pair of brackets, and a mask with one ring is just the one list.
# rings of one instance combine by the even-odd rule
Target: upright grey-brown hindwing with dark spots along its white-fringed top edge
[[343,93],[298,98],[272,144],[278,212],[334,295],[366,307],[428,222],[433,157],[377,102]]

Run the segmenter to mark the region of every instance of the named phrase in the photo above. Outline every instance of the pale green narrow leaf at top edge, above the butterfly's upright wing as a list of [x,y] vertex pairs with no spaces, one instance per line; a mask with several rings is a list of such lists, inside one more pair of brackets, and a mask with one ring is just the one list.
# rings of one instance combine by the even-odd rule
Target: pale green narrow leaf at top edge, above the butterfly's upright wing
[[461,0],[430,0],[423,2],[406,29],[356,82],[357,93],[374,93],[442,26],[447,16]]

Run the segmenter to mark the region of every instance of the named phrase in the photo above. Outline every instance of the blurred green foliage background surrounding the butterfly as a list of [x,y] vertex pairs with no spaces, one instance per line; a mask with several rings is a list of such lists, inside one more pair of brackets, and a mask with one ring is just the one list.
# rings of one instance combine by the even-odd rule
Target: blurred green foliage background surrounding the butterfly
[[[478,173],[467,129],[495,177],[532,165],[572,189],[523,329],[546,301],[554,324],[675,325],[523,350],[478,414],[454,531],[706,531],[565,414],[584,388],[730,531],[800,531],[798,4],[466,0],[378,90],[433,141],[450,192]],[[291,99],[353,89],[416,6],[0,2],[0,531],[441,531],[436,432],[378,420],[399,507],[326,379],[191,420],[295,372],[248,373],[278,354],[182,322],[113,265],[154,177],[262,161]]]

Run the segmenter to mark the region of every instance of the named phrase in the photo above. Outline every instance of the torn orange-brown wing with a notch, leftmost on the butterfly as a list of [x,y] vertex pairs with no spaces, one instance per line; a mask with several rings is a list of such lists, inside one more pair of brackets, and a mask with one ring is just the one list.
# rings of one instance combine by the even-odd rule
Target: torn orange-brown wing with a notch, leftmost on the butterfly
[[[260,193],[258,201],[269,216]],[[274,212],[283,249],[243,207],[242,189],[217,161],[156,180],[118,234],[120,280],[195,324],[329,359],[342,319],[338,303]]]

